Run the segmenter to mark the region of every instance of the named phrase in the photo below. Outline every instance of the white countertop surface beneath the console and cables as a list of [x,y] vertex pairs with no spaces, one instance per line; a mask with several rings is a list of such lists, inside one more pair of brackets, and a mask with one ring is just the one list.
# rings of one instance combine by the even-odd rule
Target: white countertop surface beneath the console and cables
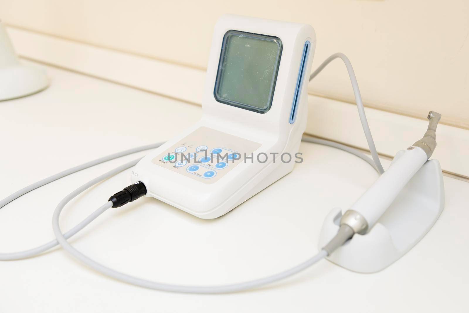
[[[0,102],[0,198],[85,161],[164,141],[201,115],[196,105],[61,69],[47,71],[52,84],[44,92]],[[99,262],[160,282],[224,284],[282,271],[315,254],[326,214],[351,205],[377,177],[363,160],[340,150],[303,143],[300,151],[305,161],[291,174],[221,218],[197,219],[144,198],[109,210],[70,241]],[[52,239],[52,213],[66,193],[143,155],[73,174],[0,209],[0,251]],[[62,228],[127,186],[129,173],[72,201]],[[376,274],[324,260],[265,288],[185,295],[114,281],[54,249],[0,262],[0,312],[467,312],[469,183],[447,176],[444,182],[446,207],[435,226]]]

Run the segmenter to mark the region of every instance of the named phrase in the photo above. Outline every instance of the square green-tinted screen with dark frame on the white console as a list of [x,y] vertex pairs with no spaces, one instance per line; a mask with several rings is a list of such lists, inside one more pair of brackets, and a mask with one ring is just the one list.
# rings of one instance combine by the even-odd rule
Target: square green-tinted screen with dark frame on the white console
[[281,51],[280,38],[228,31],[221,48],[215,99],[267,112],[272,105]]

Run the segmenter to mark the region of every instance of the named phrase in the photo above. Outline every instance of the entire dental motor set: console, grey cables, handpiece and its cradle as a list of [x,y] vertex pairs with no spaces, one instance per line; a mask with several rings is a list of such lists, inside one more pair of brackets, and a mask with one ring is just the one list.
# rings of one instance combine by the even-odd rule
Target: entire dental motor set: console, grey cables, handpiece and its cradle
[[[385,171],[371,137],[350,61],[344,54],[335,53],[310,74],[315,47],[316,35],[310,25],[222,16],[213,33],[201,119],[165,143],[87,162],[1,200],[0,207],[76,171],[153,149],[143,159],[98,176],[65,197],[53,214],[56,239],[26,251],[0,253],[0,260],[29,258],[61,244],[71,255],[104,275],[146,288],[189,293],[251,289],[294,275],[323,258],[361,273],[380,271],[398,260],[424,237],[444,207],[441,168],[438,160],[429,160],[436,147],[435,132],[441,116],[430,112],[424,136],[398,152]],[[307,85],[336,58],[348,70],[372,159],[349,146],[303,136],[308,116]],[[380,176],[348,209],[335,208],[326,216],[322,229],[318,229],[318,254],[284,272],[229,285],[173,285],[106,267],[67,241],[108,208],[143,196],[164,201],[199,218],[217,218],[291,172],[295,163],[303,160],[299,153],[302,140],[353,153],[370,163]],[[63,233],[59,227],[63,207],[81,192],[126,168],[132,168],[132,184]]]

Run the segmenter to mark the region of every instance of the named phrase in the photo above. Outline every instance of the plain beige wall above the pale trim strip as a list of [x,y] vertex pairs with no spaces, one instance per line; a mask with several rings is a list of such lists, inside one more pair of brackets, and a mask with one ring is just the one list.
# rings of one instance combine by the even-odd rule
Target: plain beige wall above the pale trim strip
[[[469,1],[1,0],[10,25],[205,69],[212,28],[234,13],[310,23],[313,67],[334,52],[352,61],[367,106],[469,128]],[[336,61],[310,92],[353,102]]]

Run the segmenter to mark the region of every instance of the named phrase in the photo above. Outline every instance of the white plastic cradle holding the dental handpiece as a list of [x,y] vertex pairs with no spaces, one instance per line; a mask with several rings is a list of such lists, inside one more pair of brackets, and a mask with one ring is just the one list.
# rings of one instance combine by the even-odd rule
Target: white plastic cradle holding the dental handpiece
[[[399,151],[393,163],[406,152]],[[383,270],[425,236],[444,206],[445,191],[439,161],[428,160],[368,233],[355,234],[327,260],[359,273]],[[341,209],[334,208],[325,218],[319,237],[320,249],[337,234],[341,217]]]

